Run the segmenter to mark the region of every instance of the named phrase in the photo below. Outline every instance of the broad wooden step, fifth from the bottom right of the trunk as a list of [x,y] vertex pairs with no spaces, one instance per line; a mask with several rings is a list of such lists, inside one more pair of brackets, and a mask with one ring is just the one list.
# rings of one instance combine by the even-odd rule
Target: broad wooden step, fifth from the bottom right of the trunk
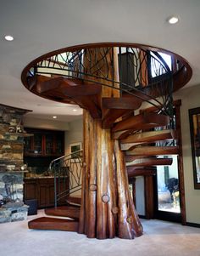
[[155,127],[161,127],[169,124],[169,117],[158,115],[153,112],[143,112],[135,117],[129,117],[114,124],[112,132],[119,132],[124,130],[146,130]]

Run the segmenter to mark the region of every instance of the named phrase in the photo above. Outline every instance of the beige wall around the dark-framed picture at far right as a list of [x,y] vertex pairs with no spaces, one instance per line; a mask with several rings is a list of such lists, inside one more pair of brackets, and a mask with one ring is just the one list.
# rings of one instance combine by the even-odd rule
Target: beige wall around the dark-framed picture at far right
[[200,190],[194,190],[192,150],[188,110],[200,106],[200,85],[181,89],[174,100],[181,99],[181,130],[183,145],[183,166],[186,192],[186,221],[200,224]]

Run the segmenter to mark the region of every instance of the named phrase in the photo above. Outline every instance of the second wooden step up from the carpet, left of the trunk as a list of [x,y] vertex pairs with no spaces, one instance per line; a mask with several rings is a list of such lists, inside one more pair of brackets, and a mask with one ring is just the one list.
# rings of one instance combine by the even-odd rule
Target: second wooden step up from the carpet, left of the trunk
[[45,213],[51,216],[69,217],[71,219],[79,220],[80,208],[73,206],[60,206],[57,208],[46,208]]

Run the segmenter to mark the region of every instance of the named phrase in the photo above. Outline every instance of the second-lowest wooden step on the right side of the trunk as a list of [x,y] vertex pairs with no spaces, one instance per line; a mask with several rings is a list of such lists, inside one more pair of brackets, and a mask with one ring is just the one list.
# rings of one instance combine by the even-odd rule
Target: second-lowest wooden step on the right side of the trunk
[[135,159],[132,162],[127,162],[126,167],[149,167],[149,166],[158,166],[158,165],[171,165],[173,162],[172,158],[157,158],[157,157],[145,157]]

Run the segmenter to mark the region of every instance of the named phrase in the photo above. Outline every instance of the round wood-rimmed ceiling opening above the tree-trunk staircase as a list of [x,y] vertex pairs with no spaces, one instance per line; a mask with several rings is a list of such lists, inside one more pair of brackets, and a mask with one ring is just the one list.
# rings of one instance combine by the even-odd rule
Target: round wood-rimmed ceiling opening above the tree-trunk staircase
[[[100,88],[132,95],[166,108],[172,93],[192,77],[181,56],[136,43],[92,43],[58,49],[31,61],[22,71],[25,88],[48,100],[78,104]],[[158,100],[158,98],[160,100]]]

